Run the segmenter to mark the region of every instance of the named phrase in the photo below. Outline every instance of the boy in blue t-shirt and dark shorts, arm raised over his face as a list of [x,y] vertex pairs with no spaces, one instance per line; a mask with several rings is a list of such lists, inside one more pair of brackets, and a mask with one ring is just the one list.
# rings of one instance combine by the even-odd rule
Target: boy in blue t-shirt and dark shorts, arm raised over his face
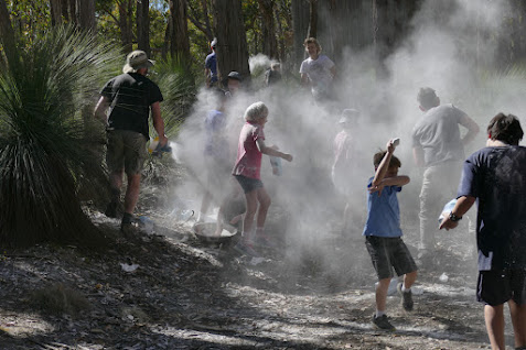
[[393,155],[393,141],[387,142],[387,151],[374,155],[375,176],[367,185],[367,221],[363,232],[378,276],[373,325],[386,330],[395,330],[385,314],[393,269],[397,275],[404,275],[404,282],[398,284],[397,289],[401,296],[401,305],[408,311],[412,310],[411,286],[417,278],[417,265],[401,240],[400,209],[396,197],[401,186],[407,185],[410,179],[409,176],[398,175],[401,163]]

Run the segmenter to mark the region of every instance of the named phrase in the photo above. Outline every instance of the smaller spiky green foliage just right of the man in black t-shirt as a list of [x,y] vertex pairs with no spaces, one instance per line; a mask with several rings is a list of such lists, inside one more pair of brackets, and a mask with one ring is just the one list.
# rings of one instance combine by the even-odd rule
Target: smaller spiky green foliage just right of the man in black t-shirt
[[153,67],[152,79],[159,85],[164,98],[161,113],[165,134],[169,136],[176,134],[195,101],[194,78],[186,67],[182,59],[170,56],[165,61],[157,62]]

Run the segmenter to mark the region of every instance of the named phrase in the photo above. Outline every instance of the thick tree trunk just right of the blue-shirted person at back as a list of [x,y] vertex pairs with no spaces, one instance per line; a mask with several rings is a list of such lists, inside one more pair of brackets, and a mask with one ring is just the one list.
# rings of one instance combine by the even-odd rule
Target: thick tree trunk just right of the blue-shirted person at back
[[240,0],[213,0],[214,28],[217,34],[217,72],[219,80],[238,72],[244,85],[250,84],[247,34]]

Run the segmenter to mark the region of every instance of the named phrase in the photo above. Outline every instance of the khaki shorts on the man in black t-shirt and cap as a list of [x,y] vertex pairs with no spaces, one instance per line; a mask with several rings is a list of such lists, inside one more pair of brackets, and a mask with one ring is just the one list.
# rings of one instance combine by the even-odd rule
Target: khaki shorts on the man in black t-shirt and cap
[[129,130],[108,131],[108,150],[106,164],[110,173],[125,169],[127,175],[142,172],[147,157],[146,138],[143,134]]

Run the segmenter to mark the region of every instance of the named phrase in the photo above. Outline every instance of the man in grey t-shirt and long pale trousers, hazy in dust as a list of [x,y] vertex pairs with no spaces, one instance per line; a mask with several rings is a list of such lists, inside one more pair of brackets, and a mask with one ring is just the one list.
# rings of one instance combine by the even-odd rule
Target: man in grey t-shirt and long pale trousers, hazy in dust
[[[428,263],[434,250],[438,233],[437,219],[443,204],[457,196],[464,145],[473,141],[479,125],[453,105],[440,105],[433,89],[421,88],[417,100],[423,116],[412,129],[412,154],[417,166],[423,166],[420,190],[420,253]],[[468,129],[461,138],[459,124]]]

